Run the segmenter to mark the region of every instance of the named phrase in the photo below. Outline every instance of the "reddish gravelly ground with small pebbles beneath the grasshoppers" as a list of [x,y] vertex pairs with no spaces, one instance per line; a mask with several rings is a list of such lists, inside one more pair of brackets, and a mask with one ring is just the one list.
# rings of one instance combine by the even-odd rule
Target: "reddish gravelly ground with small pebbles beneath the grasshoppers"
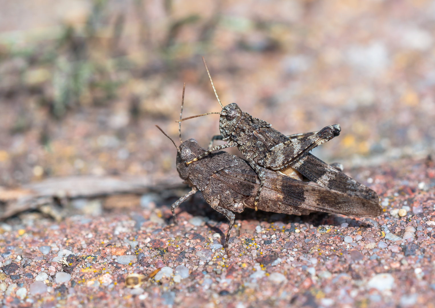
[[[1,225],[0,299],[5,307],[433,307],[434,163],[372,171],[351,174],[379,192],[381,216],[246,211],[229,254],[228,223],[201,198],[180,207],[178,226],[170,206],[147,196],[141,208],[59,224],[22,214]],[[140,285],[126,283],[132,273],[144,275]]]

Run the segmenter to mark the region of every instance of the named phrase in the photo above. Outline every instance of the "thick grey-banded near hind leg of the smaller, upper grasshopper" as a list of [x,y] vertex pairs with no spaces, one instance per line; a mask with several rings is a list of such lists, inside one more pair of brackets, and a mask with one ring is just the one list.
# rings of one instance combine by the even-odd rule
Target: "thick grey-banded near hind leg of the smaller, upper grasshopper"
[[264,167],[271,169],[281,169],[288,166],[298,157],[311,151],[315,147],[338,136],[339,131],[334,126],[326,126],[316,134],[300,139],[291,139],[281,144],[277,144],[270,149],[264,157]]

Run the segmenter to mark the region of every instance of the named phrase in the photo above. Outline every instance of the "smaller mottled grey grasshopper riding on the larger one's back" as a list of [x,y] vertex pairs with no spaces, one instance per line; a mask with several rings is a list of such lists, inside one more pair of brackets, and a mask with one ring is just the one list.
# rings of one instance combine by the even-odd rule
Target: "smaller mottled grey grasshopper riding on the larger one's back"
[[[341,171],[329,166],[309,153],[309,151],[320,144],[338,136],[341,131],[339,124],[326,126],[316,132],[288,136],[281,134],[272,128],[268,122],[243,112],[235,103],[223,106],[214,88],[213,80],[211,79],[204,57],[203,61],[214,94],[222,107],[221,112],[207,114],[220,114],[219,130],[221,134],[211,139],[207,151],[194,157],[191,161],[187,161],[186,164],[192,164],[194,161],[198,161],[214,151],[227,147],[238,147],[260,179],[260,185],[254,198],[255,205],[259,201],[261,189],[265,183],[264,168],[288,175],[298,175],[300,173],[320,186],[378,202],[378,195],[375,191],[351,179]],[[207,114],[187,117],[179,121]],[[211,147],[214,140],[228,141],[228,143]],[[255,209],[257,210],[258,208],[256,207]]]

